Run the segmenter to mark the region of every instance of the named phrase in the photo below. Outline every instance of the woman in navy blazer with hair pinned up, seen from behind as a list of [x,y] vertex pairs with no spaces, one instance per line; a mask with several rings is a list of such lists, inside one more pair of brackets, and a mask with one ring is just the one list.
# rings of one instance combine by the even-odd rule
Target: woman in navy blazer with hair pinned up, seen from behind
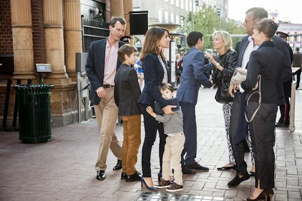
[[[252,38],[259,48],[250,55],[246,81],[236,86],[240,92],[249,93],[254,91],[260,74],[260,92],[251,96],[246,106],[247,116],[257,111],[254,119],[249,123],[253,149],[256,159],[255,190],[246,200],[259,200],[265,197],[272,200],[274,194],[274,173],[275,173],[275,122],[278,111],[279,98],[283,98],[281,70],[283,66],[283,54],[275,48],[271,41],[278,25],[271,19],[262,19],[254,24]],[[260,103],[258,102],[260,100]],[[259,105],[260,104],[260,105]]]

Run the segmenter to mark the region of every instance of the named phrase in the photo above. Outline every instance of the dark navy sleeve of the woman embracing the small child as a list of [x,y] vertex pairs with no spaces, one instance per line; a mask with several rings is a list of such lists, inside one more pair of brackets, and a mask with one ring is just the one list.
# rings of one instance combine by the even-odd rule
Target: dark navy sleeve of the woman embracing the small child
[[154,100],[159,103],[161,109],[168,105],[167,101],[161,96],[156,83],[156,66],[159,65],[157,60],[154,60],[151,55],[147,54],[143,61],[143,69],[145,75],[145,82],[149,84],[148,91],[153,96]]

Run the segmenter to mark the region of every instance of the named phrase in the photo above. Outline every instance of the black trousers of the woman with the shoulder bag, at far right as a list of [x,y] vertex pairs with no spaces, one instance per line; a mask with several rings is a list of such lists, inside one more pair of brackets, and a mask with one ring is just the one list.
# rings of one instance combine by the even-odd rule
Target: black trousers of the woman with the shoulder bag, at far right
[[[258,107],[258,103],[249,102],[247,105],[247,115],[249,118]],[[250,125],[250,132],[253,141],[253,148],[256,163],[255,187],[274,188],[275,172],[275,122],[278,111],[278,104],[261,103]]]

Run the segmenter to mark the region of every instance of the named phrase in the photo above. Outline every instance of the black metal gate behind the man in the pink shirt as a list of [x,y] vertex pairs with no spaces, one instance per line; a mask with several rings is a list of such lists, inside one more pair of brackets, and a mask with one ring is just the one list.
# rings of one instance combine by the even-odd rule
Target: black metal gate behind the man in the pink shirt
[[109,36],[109,24],[99,20],[82,18],[83,52],[88,52],[89,46],[93,41]]

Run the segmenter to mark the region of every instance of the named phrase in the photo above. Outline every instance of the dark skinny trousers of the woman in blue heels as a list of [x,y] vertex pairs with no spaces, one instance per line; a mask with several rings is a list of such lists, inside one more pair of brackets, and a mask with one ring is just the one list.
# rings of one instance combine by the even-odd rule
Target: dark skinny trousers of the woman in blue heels
[[[164,152],[165,138],[163,124],[158,123],[153,116],[151,116],[147,111],[146,107],[149,105],[140,104],[141,111],[144,116],[144,126],[145,126],[145,141],[142,149],[142,169],[144,177],[151,177],[151,149],[156,139],[156,133],[159,133],[159,165],[160,170],[162,170],[162,156]],[[154,104],[150,105],[154,110]]]

